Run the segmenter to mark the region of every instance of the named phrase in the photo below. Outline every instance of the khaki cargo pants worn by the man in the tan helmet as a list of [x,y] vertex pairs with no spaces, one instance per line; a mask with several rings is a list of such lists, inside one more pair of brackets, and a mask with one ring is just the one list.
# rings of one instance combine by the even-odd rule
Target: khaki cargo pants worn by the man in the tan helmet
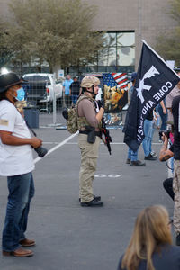
[[81,198],[81,202],[90,202],[94,199],[93,180],[100,140],[101,139],[96,136],[94,143],[88,143],[86,134],[78,135],[78,146],[81,150],[81,166],[79,172],[79,198]]

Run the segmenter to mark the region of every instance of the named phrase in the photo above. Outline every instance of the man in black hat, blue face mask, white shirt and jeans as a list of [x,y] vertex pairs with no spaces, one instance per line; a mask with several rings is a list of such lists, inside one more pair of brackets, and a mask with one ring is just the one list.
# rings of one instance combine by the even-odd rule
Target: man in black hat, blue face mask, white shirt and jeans
[[25,237],[34,184],[32,150],[41,139],[31,138],[23,116],[15,107],[22,101],[23,80],[13,72],[0,76],[0,175],[7,176],[8,202],[2,238],[3,255],[29,257],[33,252],[22,247],[35,245]]

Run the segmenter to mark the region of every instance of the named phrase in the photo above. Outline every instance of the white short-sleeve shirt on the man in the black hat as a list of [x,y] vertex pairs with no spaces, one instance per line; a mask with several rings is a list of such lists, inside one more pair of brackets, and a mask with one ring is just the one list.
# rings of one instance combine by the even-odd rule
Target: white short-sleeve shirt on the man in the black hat
[[[7,100],[0,102],[0,130],[10,131],[16,137],[31,138],[23,116],[14,104]],[[6,145],[0,139],[0,175],[23,175],[30,173],[33,169],[34,162],[30,145]]]

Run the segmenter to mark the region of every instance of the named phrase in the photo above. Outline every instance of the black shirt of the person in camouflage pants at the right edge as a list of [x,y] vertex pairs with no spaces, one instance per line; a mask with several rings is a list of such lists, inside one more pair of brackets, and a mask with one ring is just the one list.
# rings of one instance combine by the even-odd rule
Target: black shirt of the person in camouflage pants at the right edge
[[180,103],[180,95],[175,96],[172,103],[172,112],[174,118],[174,157],[175,159],[180,160],[180,132],[179,128],[179,103]]

